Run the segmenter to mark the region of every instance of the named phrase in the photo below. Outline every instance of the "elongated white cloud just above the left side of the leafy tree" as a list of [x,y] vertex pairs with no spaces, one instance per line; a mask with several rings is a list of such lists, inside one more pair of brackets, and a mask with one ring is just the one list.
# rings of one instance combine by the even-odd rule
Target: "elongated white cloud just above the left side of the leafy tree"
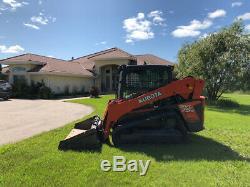
[[178,26],[177,29],[172,32],[172,35],[177,38],[195,37],[201,34],[200,30],[207,29],[212,24],[212,21],[208,19],[205,19],[203,22],[192,20],[189,25]]

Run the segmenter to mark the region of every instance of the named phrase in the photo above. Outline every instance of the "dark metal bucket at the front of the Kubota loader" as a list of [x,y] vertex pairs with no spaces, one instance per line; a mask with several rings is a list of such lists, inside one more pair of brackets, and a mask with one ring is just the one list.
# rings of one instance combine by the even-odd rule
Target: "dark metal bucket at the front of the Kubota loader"
[[98,116],[91,117],[83,122],[75,124],[69,135],[60,141],[60,150],[89,150],[101,147],[101,141],[97,126],[101,120]]

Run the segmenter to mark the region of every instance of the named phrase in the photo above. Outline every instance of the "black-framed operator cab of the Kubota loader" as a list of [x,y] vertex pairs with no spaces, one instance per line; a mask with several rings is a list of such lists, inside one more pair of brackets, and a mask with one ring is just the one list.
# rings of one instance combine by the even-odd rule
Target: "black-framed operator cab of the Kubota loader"
[[117,98],[132,99],[169,84],[173,80],[173,69],[166,65],[120,66]]

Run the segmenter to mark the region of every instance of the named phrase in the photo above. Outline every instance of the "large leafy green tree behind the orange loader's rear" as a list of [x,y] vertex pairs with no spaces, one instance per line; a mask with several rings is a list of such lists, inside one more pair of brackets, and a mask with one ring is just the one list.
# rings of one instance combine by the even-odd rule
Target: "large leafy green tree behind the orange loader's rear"
[[236,85],[250,60],[250,37],[237,21],[206,38],[185,44],[178,53],[177,77],[194,76],[206,81],[209,100],[217,100]]

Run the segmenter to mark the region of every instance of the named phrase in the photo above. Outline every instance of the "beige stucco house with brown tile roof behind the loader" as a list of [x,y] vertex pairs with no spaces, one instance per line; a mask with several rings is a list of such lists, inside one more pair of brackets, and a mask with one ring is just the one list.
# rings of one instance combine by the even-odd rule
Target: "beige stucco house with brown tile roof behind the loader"
[[118,81],[117,67],[122,64],[143,65],[173,63],[154,55],[131,55],[121,49],[111,48],[86,55],[70,61],[45,57],[35,54],[23,54],[0,60],[8,65],[5,73],[9,82],[18,80],[44,82],[54,93],[63,93],[65,88],[70,92],[85,89],[89,91],[96,86],[101,92],[112,92]]

